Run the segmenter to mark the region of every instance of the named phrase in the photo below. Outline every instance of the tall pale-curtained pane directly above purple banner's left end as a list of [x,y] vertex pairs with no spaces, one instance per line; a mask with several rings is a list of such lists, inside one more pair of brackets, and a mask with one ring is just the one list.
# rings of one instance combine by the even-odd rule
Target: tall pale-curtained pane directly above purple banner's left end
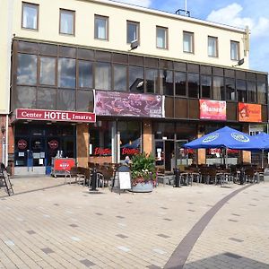
[[108,63],[96,63],[95,88],[97,90],[111,90],[111,66]]

